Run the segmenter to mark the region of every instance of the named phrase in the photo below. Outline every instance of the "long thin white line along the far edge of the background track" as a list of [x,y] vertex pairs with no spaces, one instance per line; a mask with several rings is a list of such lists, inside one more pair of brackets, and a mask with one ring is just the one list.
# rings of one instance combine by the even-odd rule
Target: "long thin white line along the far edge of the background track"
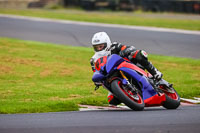
[[181,34],[200,35],[200,31],[179,30],[179,29],[170,29],[170,28],[79,22],[79,21],[71,21],[71,20],[56,20],[56,19],[17,16],[17,15],[5,15],[5,14],[0,14],[0,17],[8,17],[8,18],[23,19],[23,20],[40,21],[40,22],[56,22],[56,23],[63,23],[63,24],[76,24],[76,25],[86,25],[86,26],[112,27],[112,28],[123,28],[123,29],[133,29],[133,30],[146,30],[146,31],[172,32],[172,33],[181,33]]

